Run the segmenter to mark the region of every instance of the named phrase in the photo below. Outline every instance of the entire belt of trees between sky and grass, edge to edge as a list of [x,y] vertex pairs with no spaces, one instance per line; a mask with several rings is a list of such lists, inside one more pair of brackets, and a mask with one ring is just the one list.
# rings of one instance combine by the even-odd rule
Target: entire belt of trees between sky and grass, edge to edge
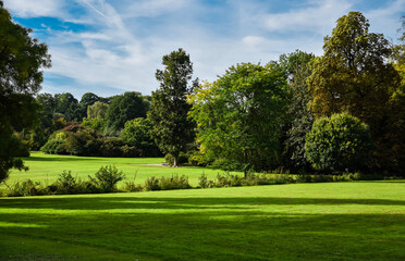
[[[0,1],[0,179],[29,149],[106,157],[165,154],[224,170],[404,174],[405,66],[401,45],[369,32],[359,12],[340,17],[323,55],[296,50],[267,64],[232,65],[192,80],[183,49],[162,58],[151,96],[37,94],[47,46]],[[403,28],[405,25],[403,24]]]

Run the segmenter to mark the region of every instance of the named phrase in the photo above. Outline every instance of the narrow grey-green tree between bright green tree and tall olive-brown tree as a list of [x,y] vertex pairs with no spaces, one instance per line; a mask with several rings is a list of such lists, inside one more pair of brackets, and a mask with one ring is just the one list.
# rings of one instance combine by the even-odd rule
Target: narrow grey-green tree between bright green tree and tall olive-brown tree
[[305,136],[311,129],[315,119],[308,108],[312,96],[308,89],[307,78],[311,74],[310,64],[314,59],[312,53],[299,50],[280,55],[280,65],[289,79],[291,92],[289,114],[292,117],[286,132],[284,165],[294,171],[309,169],[309,163],[305,158]]

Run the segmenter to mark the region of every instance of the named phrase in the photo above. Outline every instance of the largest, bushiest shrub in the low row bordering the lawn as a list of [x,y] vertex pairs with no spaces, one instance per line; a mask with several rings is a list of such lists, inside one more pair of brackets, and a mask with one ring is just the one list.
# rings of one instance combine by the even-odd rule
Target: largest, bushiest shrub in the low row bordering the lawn
[[101,166],[96,173],[96,178],[88,176],[90,182],[96,184],[101,192],[114,192],[116,191],[116,184],[125,178],[122,171],[119,171],[115,166]]

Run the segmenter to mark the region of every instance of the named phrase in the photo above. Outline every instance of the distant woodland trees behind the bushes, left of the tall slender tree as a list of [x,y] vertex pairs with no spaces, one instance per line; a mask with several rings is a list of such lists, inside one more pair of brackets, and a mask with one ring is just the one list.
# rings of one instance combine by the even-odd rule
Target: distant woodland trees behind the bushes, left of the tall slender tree
[[120,136],[127,121],[146,116],[150,97],[135,91],[108,98],[87,92],[78,102],[69,92],[39,94],[36,102],[40,105],[39,124],[35,129],[20,134],[35,150],[40,149],[54,132],[75,124],[97,130],[102,136]]

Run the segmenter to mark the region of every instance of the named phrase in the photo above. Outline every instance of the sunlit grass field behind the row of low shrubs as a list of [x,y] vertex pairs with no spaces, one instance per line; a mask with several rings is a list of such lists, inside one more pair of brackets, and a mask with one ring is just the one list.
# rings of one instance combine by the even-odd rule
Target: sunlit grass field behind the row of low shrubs
[[189,177],[192,186],[198,185],[198,177],[205,173],[209,178],[214,178],[218,173],[223,173],[220,170],[211,170],[205,167],[170,167],[163,166],[161,163],[163,158],[99,158],[99,157],[73,157],[73,156],[50,156],[42,152],[32,151],[30,157],[23,158],[25,165],[29,171],[12,171],[9,184],[17,181],[30,178],[41,182],[42,184],[51,184],[58,178],[64,170],[72,171],[72,175],[87,179],[88,175],[94,176],[100,166],[115,165],[123,171],[127,178],[134,178],[135,172],[136,183],[144,184],[149,176],[171,176],[173,174],[186,175]]

